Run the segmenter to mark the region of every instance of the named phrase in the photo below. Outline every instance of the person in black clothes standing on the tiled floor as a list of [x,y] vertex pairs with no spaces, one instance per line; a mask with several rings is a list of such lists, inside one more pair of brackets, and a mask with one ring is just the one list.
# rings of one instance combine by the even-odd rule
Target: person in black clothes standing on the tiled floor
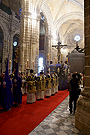
[[74,114],[76,110],[76,102],[78,99],[78,89],[79,89],[79,81],[76,77],[76,74],[72,74],[72,79],[70,80],[70,89],[69,89],[69,96],[70,96],[70,114],[72,114],[72,102],[74,101]]

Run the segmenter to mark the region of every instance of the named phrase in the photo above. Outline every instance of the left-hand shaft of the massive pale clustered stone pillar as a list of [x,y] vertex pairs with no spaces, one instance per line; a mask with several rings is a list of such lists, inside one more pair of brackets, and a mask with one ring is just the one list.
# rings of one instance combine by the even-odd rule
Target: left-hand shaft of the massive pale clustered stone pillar
[[[22,13],[20,20],[20,65],[21,71],[24,72],[25,68],[29,68],[29,56],[31,56],[30,37],[31,37],[31,12],[30,2],[22,0]],[[30,53],[30,55],[29,55]],[[26,66],[26,67],[25,67]]]

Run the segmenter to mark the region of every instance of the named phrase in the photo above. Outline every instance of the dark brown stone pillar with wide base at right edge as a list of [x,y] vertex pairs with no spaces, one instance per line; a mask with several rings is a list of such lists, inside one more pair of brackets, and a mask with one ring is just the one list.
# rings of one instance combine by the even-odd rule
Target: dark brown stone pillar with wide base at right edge
[[85,31],[85,74],[84,91],[78,99],[75,112],[75,127],[85,135],[90,135],[90,0],[84,1]]

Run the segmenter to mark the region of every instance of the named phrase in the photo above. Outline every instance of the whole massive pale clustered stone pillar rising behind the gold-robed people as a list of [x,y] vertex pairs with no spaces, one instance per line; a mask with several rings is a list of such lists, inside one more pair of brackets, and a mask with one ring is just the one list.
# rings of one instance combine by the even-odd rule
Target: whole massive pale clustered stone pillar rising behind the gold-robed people
[[31,3],[30,1],[22,0],[19,44],[21,71],[24,72],[25,63],[28,61],[28,68],[33,68],[37,72],[39,58],[39,16],[36,13],[33,2]]

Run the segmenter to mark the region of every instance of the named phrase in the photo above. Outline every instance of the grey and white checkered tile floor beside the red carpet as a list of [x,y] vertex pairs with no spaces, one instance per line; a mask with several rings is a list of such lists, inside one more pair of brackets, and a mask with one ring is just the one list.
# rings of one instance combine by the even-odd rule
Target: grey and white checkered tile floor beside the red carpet
[[69,96],[29,135],[83,135],[75,128],[75,115],[70,115]]

